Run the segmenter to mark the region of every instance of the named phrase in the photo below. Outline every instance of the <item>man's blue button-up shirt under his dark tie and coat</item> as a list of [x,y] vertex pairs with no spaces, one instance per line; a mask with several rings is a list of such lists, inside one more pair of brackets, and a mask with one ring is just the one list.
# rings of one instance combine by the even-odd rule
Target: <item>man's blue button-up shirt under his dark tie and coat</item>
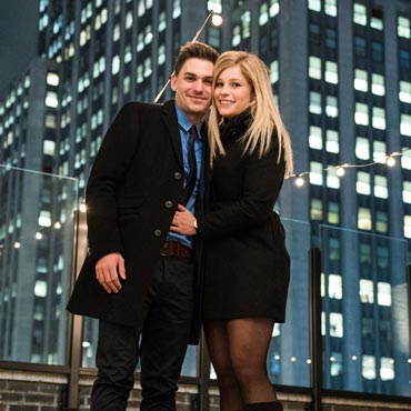
[[[187,178],[190,172],[189,167],[189,130],[193,126],[192,122],[187,118],[186,113],[177,106],[177,120],[180,126],[180,138],[181,138],[181,148],[182,148],[182,160],[184,164],[184,184],[187,184]],[[198,131],[198,139],[194,140],[194,150],[196,150],[196,160],[197,160],[197,181],[192,194],[184,206],[188,210],[190,210],[193,214],[196,211],[196,199],[197,194],[200,190],[200,176],[201,176],[201,164],[202,164],[202,141],[201,141],[201,133],[200,133],[200,126],[196,126]],[[183,235],[177,232],[170,231],[167,235],[169,241],[179,241],[183,245],[192,248],[192,235]]]

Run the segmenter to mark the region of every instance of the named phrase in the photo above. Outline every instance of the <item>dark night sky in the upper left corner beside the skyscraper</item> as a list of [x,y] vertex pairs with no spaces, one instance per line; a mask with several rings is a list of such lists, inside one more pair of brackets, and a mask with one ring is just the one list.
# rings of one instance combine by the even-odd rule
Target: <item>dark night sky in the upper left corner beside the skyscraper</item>
[[37,56],[38,0],[0,0],[0,94]]

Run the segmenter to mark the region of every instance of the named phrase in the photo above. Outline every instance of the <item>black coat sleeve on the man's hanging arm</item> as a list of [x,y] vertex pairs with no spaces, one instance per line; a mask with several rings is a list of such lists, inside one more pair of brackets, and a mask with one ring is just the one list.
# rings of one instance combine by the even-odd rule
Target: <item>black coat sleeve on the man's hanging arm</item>
[[93,261],[122,251],[116,199],[137,151],[136,124],[136,108],[128,103],[111,123],[89,177],[86,204],[89,258]]

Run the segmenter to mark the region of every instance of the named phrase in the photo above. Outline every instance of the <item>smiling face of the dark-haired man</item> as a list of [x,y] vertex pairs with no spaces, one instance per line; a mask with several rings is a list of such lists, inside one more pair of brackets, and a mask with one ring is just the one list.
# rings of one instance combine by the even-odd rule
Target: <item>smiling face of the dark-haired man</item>
[[177,104],[193,123],[200,123],[210,107],[213,69],[211,61],[191,58],[171,77]]

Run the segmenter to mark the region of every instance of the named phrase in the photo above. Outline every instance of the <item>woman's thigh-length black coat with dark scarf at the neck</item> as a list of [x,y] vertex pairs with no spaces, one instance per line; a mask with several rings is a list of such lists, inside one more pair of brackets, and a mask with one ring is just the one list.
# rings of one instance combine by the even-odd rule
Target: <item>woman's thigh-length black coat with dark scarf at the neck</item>
[[245,112],[221,130],[225,156],[214,160],[210,203],[198,218],[206,250],[204,320],[272,318],[283,322],[290,279],[285,234],[273,211],[284,178],[277,134],[271,150],[243,156]]

